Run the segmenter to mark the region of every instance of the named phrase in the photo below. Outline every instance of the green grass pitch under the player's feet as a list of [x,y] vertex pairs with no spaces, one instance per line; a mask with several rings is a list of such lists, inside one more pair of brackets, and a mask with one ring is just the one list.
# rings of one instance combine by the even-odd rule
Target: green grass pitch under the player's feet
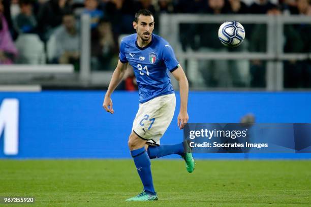
[[[152,160],[148,206],[311,206],[309,160],[196,163],[189,174],[182,160]],[[141,190],[132,160],[0,160],[0,196],[36,197],[5,206],[146,206],[125,201]]]

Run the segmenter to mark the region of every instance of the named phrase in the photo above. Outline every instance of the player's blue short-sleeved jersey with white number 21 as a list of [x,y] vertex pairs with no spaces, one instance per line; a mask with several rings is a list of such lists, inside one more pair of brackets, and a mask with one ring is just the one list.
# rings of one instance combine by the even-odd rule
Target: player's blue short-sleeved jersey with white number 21
[[146,102],[154,97],[174,93],[169,71],[178,68],[172,47],[166,40],[152,34],[151,42],[141,48],[137,44],[137,34],[122,39],[119,59],[129,62],[137,79],[139,102]]

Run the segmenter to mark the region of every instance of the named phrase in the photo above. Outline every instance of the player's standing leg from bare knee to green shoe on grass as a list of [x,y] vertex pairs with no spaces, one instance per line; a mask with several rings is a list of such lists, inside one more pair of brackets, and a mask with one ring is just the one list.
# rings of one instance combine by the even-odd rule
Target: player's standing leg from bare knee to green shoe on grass
[[146,141],[132,132],[128,144],[144,189],[142,193],[127,199],[127,201],[158,200],[157,193],[153,187],[151,162],[145,150]]

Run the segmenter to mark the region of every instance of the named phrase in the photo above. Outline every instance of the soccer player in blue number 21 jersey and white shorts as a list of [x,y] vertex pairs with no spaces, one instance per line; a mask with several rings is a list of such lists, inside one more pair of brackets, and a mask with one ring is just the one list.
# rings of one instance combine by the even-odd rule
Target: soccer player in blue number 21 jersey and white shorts
[[152,182],[150,159],[178,154],[185,160],[188,172],[194,170],[192,154],[184,152],[183,143],[160,145],[160,139],[175,111],[175,93],[169,72],[179,82],[180,111],[177,125],[180,129],[189,119],[188,80],[169,43],[152,33],[154,18],[150,11],[139,10],[133,26],[136,33],[121,40],[118,64],[106,92],[103,108],[114,113],[110,96],[130,63],[137,79],[140,104],[128,145],[144,188],[142,193],[127,201],[158,200]]

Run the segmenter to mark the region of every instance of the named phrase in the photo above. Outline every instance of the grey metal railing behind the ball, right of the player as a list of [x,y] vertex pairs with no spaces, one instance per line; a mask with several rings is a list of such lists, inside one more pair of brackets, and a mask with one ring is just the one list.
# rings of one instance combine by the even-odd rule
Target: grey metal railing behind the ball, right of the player
[[[225,21],[239,21],[242,24],[266,24],[266,51],[265,52],[197,52],[183,51],[179,41],[180,24],[216,23],[221,25]],[[265,60],[267,61],[266,90],[284,90],[283,61],[308,60],[310,53],[284,53],[284,25],[310,24],[309,16],[271,16],[271,15],[196,15],[196,14],[162,14],[160,16],[160,34],[168,40],[175,49],[176,56],[181,64],[187,68],[190,81],[195,82],[192,74],[197,74],[193,61],[199,60]],[[214,31],[217,35],[218,31]],[[246,33],[246,39],[247,30]],[[186,61],[188,60],[188,61]],[[195,65],[195,66],[193,66]],[[175,83],[176,84],[176,83]]]

